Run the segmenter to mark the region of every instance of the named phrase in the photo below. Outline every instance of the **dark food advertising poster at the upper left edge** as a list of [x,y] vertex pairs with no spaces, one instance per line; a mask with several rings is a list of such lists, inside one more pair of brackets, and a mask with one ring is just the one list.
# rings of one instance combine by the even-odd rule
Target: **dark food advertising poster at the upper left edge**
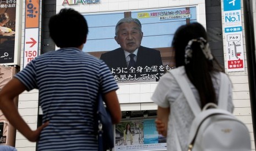
[[0,1],[0,63],[14,62],[16,1]]

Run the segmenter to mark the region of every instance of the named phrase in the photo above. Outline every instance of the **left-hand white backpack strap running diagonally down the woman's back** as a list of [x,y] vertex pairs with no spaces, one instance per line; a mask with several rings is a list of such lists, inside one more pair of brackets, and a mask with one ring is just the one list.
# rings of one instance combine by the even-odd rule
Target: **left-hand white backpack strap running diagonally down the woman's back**
[[[186,100],[188,101],[189,107],[192,109],[192,112],[194,113],[194,115],[197,115],[201,112],[201,108],[199,107],[198,102],[195,100],[195,96],[189,87],[189,83],[185,78],[185,75],[182,74],[183,68],[184,67],[178,67],[178,68],[169,70],[169,72],[176,79],[179,87],[181,88],[184,96],[186,97]],[[198,104],[198,105],[195,105],[195,104]]]

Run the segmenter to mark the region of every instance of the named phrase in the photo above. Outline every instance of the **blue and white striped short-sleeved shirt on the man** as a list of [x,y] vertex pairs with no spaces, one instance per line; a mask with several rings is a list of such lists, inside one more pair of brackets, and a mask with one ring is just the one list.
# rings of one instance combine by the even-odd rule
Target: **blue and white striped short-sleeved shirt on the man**
[[15,75],[28,91],[39,89],[43,123],[38,150],[97,150],[97,93],[117,90],[104,61],[77,48],[40,55]]

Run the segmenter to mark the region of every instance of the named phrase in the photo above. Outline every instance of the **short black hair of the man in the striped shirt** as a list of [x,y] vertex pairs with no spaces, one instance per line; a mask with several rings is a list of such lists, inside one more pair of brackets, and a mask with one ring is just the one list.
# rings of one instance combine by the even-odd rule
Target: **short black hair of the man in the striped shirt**
[[57,47],[79,47],[86,40],[88,25],[84,16],[78,11],[63,8],[51,17],[49,30]]

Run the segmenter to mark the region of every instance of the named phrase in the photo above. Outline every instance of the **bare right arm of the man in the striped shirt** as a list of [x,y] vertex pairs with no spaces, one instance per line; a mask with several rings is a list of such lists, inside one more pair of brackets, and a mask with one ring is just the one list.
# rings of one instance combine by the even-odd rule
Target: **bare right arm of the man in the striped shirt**
[[120,104],[117,98],[116,91],[110,91],[104,94],[104,100],[108,110],[110,111],[112,123],[117,124],[122,118]]

